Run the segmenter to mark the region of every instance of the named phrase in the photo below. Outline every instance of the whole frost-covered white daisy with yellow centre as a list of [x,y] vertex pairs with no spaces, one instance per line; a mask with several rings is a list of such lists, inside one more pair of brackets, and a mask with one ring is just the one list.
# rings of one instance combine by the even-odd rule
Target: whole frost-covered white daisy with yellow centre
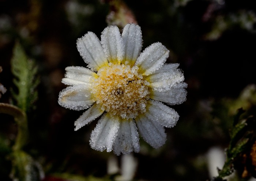
[[[122,35],[117,26],[103,30],[101,41],[88,32],[77,41],[88,68],[67,67],[59,104],[86,110],[75,130],[101,116],[91,133],[93,149],[115,154],[139,152],[139,135],[154,148],[166,141],[163,127],[173,127],[178,113],[163,104],[185,101],[187,84],[179,64],[164,64],[169,50],[157,42],[142,53],[140,26],[127,24]],[[162,101],[162,102],[160,102]]]

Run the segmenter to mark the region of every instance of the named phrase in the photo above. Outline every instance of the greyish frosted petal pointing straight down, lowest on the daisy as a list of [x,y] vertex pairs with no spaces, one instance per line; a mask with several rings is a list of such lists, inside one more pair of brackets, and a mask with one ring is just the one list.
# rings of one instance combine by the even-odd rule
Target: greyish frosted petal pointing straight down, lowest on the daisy
[[116,140],[113,145],[113,151],[116,155],[129,154],[132,151],[139,152],[139,134],[135,122],[130,120],[121,120]]

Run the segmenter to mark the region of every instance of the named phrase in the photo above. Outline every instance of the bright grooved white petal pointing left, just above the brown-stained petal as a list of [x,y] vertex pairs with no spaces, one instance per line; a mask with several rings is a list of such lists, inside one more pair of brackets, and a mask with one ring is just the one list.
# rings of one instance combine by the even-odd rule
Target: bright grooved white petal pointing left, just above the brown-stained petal
[[97,78],[97,74],[84,67],[66,67],[65,78],[62,83],[73,86],[77,84],[91,84],[91,81]]

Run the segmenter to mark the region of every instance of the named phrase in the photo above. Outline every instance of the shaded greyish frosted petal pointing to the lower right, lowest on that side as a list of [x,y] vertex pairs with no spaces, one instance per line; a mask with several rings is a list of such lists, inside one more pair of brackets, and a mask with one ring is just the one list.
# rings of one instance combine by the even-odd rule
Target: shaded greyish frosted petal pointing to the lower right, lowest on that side
[[138,116],[135,121],[143,139],[153,148],[159,148],[165,144],[165,129],[156,121],[151,121],[144,115]]

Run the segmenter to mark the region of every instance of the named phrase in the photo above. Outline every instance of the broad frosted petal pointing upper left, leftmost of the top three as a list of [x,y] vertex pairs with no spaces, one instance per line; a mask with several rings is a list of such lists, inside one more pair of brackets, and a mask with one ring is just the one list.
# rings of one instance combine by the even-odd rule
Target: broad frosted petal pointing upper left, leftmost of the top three
[[98,70],[102,66],[108,65],[101,43],[93,32],[88,32],[82,38],[78,38],[76,45],[88,67]]

